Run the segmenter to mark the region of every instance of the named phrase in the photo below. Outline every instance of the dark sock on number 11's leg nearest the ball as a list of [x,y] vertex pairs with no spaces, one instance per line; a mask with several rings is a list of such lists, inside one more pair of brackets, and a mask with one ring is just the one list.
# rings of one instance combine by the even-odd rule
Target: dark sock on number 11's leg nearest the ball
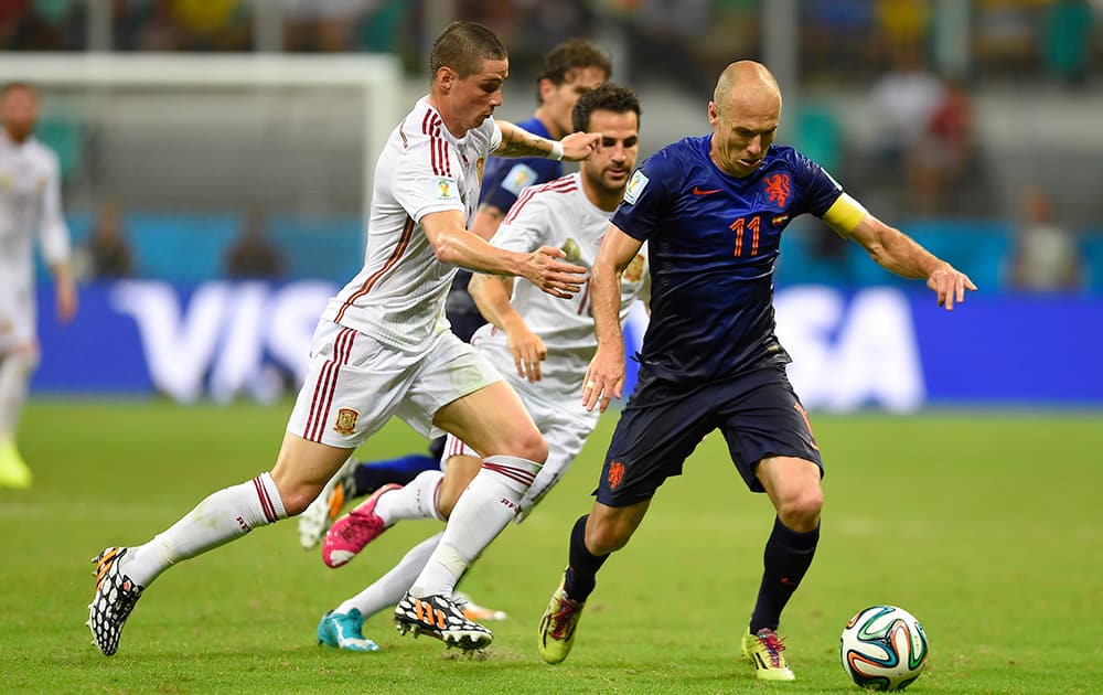
[[762,585],[751,614],[752,633],[762,628],[778,629],[781,611],[812,565],[818,543],[820,526],[807,533],[796,533],[782,524],[780,518],[774,520],[773,532],[765,542],[763,553],[765,569],[762,573]]

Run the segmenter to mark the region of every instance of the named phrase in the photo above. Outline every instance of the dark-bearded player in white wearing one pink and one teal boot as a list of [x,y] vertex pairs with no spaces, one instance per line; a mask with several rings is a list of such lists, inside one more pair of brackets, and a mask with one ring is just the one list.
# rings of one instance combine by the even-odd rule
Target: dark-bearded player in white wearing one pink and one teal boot
[[[525,189],[494,235],[495,246],[525,253],[542,246],[568,249],[568,258],[593,261],[609,217],[624,195],[639,152],[640,104],[621,86],[604,84],[582,95],[574,109],[576,130],[601,132],[601,148],[580,171]],[[623,323],[635,299],[650,297],[646,247],[621,278],[620,318]],[[512,298],[511,298],[512,291]],[[520,521],[527,515],[581,450],[593,431],[598,411],[588,411],[578,398],[586,366],[597,349],[589,293],[571,301],[547,297],[512,278],[475,275],[471,295],[490,321],[475,332],[472,344],[521,396],[548,441],[548,460],[517,503]],[[441,471],[425,471],[406,487],[386,485],[326,534],[323,558],[330,566],[351,559],[367,543],[401,520],[449,517],[463,489],[480,470],[472,447],[449,435]],[[441,539],[440,533],[415,546],[398,565],[361,594],[326,612],[318,626],[322,644],[351,651],[376,651],[363,634],[366,617],[398,602],[399,629],[416,616],[417,603],[406,596],[418,573]],[[472,538],[473,557],[485,547]]]

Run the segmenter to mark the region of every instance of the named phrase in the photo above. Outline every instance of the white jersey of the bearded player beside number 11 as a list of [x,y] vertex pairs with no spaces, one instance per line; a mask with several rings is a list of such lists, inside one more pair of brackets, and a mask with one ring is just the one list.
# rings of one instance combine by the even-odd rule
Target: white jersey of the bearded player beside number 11
[[[525,189],[491,243],[528,253],[540,246],[561,248],[571,238],[581,254],[576,263],[590,267],[610,217],[611,212],[601,210],[586,197],[581,174],[568,174]],[[558,299],[531,282],[514,282],[510,303],[548,350],[548,357],[540,365],[542,378],[535,384],[517,376],[505,333],[496,327],[488,324],[479,329],[471,342],[499,367],[526,403],[533,395],[552,403],[577,402],[581,409],[582,377],[597,350],[589,290],[587,282],[572,299]],[[621,325],[628,319],[632,302],[636,299],[647,301],[650,297],[651,277],[644,245],[621,276]]]

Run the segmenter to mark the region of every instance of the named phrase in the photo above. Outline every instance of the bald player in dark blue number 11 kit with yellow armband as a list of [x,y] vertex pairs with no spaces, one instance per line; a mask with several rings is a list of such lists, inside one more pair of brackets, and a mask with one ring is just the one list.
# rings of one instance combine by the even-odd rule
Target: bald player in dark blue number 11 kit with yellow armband
[[820,538],[823,463],[774,335],[773,268],[796,215],[824,220],[897,275],[923,279],[952,310],[973,282],[874,217],[816,163],[773,145],[781,92],[762,65],[720,75],[711,135],[667,146],[635,172],[590,276],[598,351],[582,399],[604,410],[621,396],[620,275],[647,242],[651,323],[635,392],[606,455],[588,515],[570,532],[569,565],[540,621],[539,652],[567,657],[582,607],[609,554],[624,547],[666,478],[719,429],[747,487],[777,510],[743,656],[767,681],[791,681],[777,629]]

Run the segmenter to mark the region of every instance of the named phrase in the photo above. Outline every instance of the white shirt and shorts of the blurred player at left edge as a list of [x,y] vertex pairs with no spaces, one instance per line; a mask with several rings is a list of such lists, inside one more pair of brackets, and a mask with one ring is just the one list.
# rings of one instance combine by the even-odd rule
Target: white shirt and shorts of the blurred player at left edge
[[33,137],[14,142],[0,130],[0,333],[34,335],[35,231],[46,263],[68,259],[60,172],[50,148]]

